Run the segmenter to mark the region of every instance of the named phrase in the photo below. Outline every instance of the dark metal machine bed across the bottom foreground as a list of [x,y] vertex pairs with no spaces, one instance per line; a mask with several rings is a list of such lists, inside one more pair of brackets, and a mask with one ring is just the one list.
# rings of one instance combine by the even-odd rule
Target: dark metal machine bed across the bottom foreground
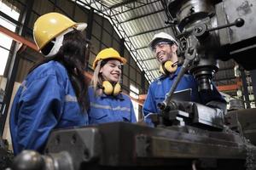
[[113,122],[56,130],[44,155],[25,150],[13,169],[253,169],[256,150],[247,139],[190,126],[147,127]]

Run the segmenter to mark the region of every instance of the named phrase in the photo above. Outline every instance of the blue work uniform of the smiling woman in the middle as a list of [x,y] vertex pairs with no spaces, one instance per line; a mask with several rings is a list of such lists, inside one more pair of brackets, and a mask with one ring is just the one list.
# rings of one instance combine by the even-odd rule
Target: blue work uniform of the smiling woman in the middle
[[137,122],[131,99],[125,94],[95,96],[93,87],[89,91],[90,109],[87,111],[90,124],[105,122]]

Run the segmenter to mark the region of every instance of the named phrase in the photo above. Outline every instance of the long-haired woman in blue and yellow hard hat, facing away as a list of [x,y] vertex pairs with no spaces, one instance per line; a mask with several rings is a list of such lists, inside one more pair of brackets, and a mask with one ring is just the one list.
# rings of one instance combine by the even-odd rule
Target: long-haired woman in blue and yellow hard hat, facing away
[[58,13],[36,20],[34,40],[46,59],[32,68],[15,95],[10,113],[15,155],[42,152],[52,129],[88,124],[87,42],[81,32],[86,26]]

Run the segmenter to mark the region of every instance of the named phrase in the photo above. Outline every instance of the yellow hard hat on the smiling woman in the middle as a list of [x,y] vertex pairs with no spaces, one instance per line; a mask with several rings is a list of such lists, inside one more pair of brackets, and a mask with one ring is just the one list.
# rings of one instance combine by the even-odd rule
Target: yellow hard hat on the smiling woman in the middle
[[119,52],[114,50],[113,48],[105,48],[97,54],[96,59],[93,61],[92,68],[96,69],[96,65],[101,59],[118,59],[122,64],[126,63],[126,59],[121,57]]

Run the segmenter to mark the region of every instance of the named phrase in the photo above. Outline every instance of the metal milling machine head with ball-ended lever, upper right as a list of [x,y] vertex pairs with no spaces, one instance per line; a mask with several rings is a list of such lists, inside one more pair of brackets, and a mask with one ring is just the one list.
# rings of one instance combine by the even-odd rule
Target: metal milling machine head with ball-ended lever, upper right
[[[196,49],[189,71],[200,90],[211,89],[218,71],[218,61],[235,59],[244,69],[256,69],[252,58],[256,52],[255,1],[170,0],[163,1],[181,53],[188,46]],[[242,26],[242,27],[241,27]]]

